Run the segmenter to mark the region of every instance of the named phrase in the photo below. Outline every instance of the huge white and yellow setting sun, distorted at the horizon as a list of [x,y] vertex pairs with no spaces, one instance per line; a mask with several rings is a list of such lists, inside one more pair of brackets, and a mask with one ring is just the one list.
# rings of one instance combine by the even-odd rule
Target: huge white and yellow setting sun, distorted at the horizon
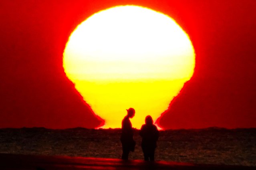
[[141,6],[116,6],[93,14],[73,31],[63,53],[67,77],[105,120],[120,128],[156,120],[194,73],[188,35],[169,16]]

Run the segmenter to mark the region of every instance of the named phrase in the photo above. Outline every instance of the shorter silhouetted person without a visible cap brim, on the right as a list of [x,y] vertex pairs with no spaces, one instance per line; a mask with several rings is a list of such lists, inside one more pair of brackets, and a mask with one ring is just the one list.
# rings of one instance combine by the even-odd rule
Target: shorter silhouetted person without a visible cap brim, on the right
[[141,148],[144,154],[144,160],[155,160],[155,148],[156,142],[159,137],[159,131],[155,125],[153,125],[153,119],[151,116],[147,116],[144,125],[142,125],[139,135],[142,138]]

